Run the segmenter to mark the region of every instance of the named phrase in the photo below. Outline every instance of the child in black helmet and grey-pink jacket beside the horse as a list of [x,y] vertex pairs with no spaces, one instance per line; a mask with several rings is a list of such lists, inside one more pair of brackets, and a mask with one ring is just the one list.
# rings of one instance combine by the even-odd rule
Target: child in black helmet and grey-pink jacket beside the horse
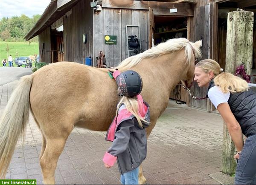
[[105,153],[103,162],[106,168],[111,168],[117,159],[121,183],[138,184],[139,166],[147,154],[145,128],[150,122],[149,105],[140,95],[143,83],[137,72],[115,71],[113,77],[122,98],[106,134],[106,140],[113,144]]

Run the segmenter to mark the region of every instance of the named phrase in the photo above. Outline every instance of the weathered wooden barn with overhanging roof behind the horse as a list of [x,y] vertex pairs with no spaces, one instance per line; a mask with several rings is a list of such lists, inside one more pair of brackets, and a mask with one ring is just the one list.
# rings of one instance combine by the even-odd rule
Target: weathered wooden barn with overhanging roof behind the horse
[[[102,51],[109,67],[168,39],[186,37],[193,42],[202,40],[203,59],[215,59],[224,68],[227,13],[237,8],[255,12],[256,1],[52,0],[25,39],[39,36],[42,62],[85,64],[85,58],[90,57],[95,66]],[[128,47],[130,35],[136,35],[140,43],[136,52]],[[255,38],[256,49],[254,43]],[[199,90],[195,84],[192,93],[204,97],[206,89]],[[210,104],[207,100],[191,100],[180,85],[170,97],[203,109]]]

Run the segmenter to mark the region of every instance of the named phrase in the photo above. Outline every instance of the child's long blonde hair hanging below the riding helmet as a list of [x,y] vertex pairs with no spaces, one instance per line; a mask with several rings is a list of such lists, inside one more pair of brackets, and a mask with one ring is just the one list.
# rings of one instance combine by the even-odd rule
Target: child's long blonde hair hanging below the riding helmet
[[[144,117],[140,117],[140,115],[138,114],[139,112],[139,105],[138,105],[138,100],[136,99],[136,97],[125,97],[123,96],[121,98],[121,100],[119,101],[118,105],[117,105],[117,109],[116,109],[116,116],[118,114],[118,110],[120,108],[120,106],[123,104],[125,104],[125,107],[127,109],[128,112],[131,112],[131,114],[134,115],[134,117],[136,117],[136,119],[138,120],[138,123],[140,125],[141,128],[143,128],[143,125],[142,125],[142,122],[141,121],[144,121],[144,122],[147,122],[145,120]],[[143,104],[143,102],[141,102]]]

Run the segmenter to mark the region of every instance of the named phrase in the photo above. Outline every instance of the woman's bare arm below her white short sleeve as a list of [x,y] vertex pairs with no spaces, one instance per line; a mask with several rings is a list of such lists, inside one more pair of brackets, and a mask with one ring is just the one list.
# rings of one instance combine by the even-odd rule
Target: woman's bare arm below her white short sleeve
[[241,151],[244,146],[243,134],[241,126],[237,122],[234,114],[230,110],[228,103],[221,103],[217,107],[221,117],[227,124],[227,129],[230,133],[230,136],[236,146],[237,151]]

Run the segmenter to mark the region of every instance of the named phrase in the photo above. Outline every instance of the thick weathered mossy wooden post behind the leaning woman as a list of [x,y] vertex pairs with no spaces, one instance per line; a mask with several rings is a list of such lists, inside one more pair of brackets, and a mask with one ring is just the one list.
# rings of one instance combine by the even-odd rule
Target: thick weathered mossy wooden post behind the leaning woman
[[[234,74],[236,67],[245,63],[247,74],[251,74],[253,60],[253,12],[232,11],[227,17],[227,49],[225,72]],[[222,172],[232,175],[236,170],[233,156],[236,148],[228,133],[226,123],[223,127]]]

